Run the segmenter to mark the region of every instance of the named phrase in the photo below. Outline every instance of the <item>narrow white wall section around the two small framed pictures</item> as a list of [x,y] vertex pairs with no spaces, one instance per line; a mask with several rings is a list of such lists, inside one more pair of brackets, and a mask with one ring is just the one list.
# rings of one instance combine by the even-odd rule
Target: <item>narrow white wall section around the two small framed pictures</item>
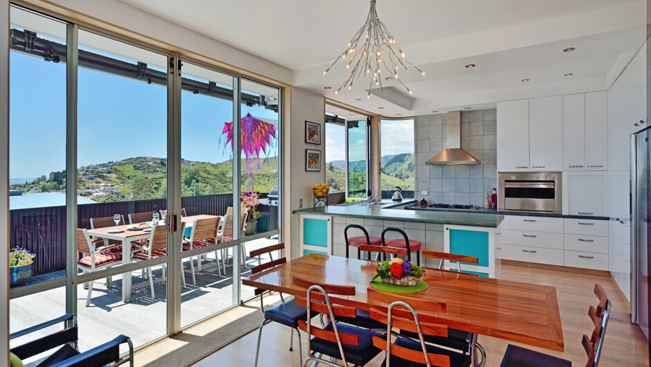
[[[289,146],[285,144],[285,152],[289,154],[289,182],[285,182],[286,191],[289,193],[291,210],[298,209],[300,199],[303,199],[303,208],[314,204],[312,185],[326,182],[326,167],[323,159],[326,154],[325,124],[326,100],[305,89],[292,88],[292,120],[287,126],[291,129]],[[321,125],[321,145],[305,143],[305,120]],[[305,150],[321,150],[321,172],[305,172]],[[309,200],[307,199],[309,198]],[[285,212],[287,213],[287,212]],[[290,221],[292,231],[292,258],[298,257],[298,215],[285,215]],[[285,227],[287,228],[287,227]]]

